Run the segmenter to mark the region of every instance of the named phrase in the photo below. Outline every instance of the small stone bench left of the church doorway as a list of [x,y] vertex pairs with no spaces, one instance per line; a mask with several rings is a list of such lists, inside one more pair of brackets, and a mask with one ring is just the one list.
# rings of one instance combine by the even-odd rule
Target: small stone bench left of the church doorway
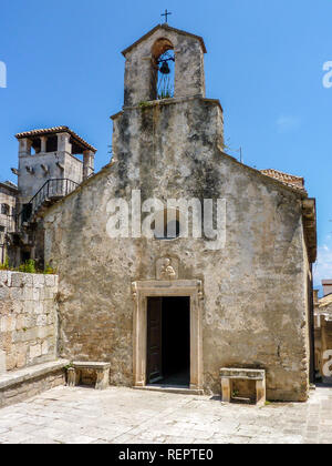
[[68,385],[75,387],[80,385],[82,371],[94,371],[96,373],[95,389],[105,389],[110,386],[111,363],[84,363],[74,362],[68,369]]

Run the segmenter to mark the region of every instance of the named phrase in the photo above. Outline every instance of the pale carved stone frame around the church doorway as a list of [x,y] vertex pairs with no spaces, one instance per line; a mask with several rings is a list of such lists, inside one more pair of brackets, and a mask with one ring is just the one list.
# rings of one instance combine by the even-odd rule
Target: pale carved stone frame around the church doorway
[[132,284],[134,308],[134,386],[146,386],[147,298],[190,297],[190,391],[203,393],[203,282],[200,280],[142,281]]

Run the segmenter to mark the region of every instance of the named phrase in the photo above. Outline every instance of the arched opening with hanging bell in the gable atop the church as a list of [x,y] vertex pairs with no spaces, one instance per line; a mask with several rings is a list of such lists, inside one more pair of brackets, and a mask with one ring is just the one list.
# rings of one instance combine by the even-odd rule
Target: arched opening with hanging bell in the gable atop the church
[[168,39],[158,39],[152,51],[152,94],[153,100],[174,98],[175,53]]

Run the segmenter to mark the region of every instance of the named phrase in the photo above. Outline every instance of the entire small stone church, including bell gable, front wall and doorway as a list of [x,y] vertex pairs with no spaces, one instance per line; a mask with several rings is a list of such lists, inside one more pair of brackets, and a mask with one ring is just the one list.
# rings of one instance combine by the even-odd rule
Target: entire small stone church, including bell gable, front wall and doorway
[[315,202],[302,179],[225,153],[205,53],[167,24],[126,49],[113,159],[44,213],[59,355],[111,362],[114,385],[207,394],[221,367],[259,368],[268,399],[305,401]]

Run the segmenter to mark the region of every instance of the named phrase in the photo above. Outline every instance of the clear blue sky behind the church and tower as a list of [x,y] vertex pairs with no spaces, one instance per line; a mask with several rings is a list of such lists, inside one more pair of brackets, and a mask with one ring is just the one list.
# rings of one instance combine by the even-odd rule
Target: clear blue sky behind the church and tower
[[69,125],[108,162],[110,115],[123,104],[121,51],[173,12],[203,36],[207,95],[225,111],[228,145],[245,163],[305,178],[318,200],[317,283],[332,278],[331,0],[1,0],[0,179],[15,181],[20,131]]

